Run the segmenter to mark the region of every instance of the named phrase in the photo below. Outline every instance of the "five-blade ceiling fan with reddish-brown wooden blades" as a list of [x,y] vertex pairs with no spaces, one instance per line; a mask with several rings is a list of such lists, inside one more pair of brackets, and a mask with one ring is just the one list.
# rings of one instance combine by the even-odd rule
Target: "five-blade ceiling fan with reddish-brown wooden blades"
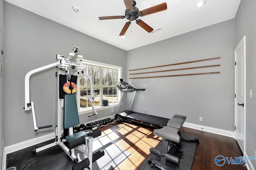
[[119,35],[121,35],[121,36],[125,34],[126,30],[128,29],[128,27],[131,24],[131,21],[134,21],[134,20],[136,20],[136,23],[138,25],[140,25],[140,27],[142,27],[143,29],[148,31],[148,33],[150,33],[151,31],[153,31],[153,28],[150,27],[145,22],[143,22],[142,20],[138,19],[139,16],[142,17],[142,16],[146,16],[146,15],[153,14],[156,12],[167,10],[166,2],[156,5],[156,6],[152,6],[145,10],[142,10],[142,11],[140,11],[137,7],[135,7],[136,2],[134,0],[124,0],[124,4],[126,6],[124,16],[102,16],[102,17],[99,17],[100,20],[124,19],[124,18],[129,20],[128,22],[126,22],[124,24],[124,27],[123,27],[122,31],[120,32]]

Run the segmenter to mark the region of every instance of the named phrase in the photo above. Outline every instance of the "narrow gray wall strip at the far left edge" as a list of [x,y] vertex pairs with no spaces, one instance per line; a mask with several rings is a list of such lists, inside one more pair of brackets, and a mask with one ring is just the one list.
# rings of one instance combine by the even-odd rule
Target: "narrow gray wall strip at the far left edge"
[[[0,0],[0,25],[3,31],[3,20],[4,19],[4,0]],[[2,33],[2,36],[3,36]],[[3,37],[0,38],[0,53],[4,46]],[[0,54],[2,56],[2,54]],[[3,159],[3,138],[4,138],[4,109],[3,109],[3,78],[0,76],[0,167],[2,166],[2,159]]]

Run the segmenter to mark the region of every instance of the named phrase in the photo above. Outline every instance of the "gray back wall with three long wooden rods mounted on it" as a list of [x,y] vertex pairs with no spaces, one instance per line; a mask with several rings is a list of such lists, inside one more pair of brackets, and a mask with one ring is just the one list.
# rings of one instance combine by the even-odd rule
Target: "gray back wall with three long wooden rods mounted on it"
[[[158,70],[221,64],[166,73],[141,74],[161,76],[220,71],[220,74],[128,79],[138,93],[134,110],[160,117],[186,115],[186,122],[234,131],[234,19],[204,27],[127,53],[127,69],[173,64],[221,57],[219,60],[162,67]],[[140,72],[157,69],[141,70]],[[128,74],[134,72],[127,72]],[[203,121],[199,121],[203,117]]]

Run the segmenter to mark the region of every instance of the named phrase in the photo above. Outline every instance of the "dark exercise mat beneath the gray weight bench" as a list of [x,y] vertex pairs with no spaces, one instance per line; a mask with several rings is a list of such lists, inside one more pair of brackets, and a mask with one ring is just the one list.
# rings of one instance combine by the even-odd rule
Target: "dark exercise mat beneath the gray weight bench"
[[[186,139],[198,139],[197,136],[189,135],[186,133],[181,133],[181,136]],[[156,149],[162,150],[163,147],[163,140],[157,145]],[[173,147],[168,153],[173,154],[174,156],[177,156],[180,158],[180,164],[176,165],[172,162],[166,161],[166,164],[173,168],[174,170],[191,170],[193,160],[194,160],[194,154],[196,151],[196,143],[189,143],[185,141],[181,141],[179,144],[176,145],[176,147]],[[175,153],[175,154],[174,154]],[[156,167],[151,168],[150,164],[148,164],[149,158],[156,159],[160,161],[160,157],[150,154],[144,162],[139,166],[140,170],[159,170]]]

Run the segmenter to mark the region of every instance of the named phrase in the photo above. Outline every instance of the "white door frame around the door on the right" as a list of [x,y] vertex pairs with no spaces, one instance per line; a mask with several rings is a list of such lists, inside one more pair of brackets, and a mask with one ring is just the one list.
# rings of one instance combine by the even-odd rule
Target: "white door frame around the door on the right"
[[[245,154],[246,151],[246,36],[244,36],[240,43],[237,45],[236,49],[234,50],[234,58],[235,58],[235,62],[236,62],[236,51],[242,46],[244,45],[244,150],[242,150],[242,152]],[[237,67],[235,66],[235,95],[236,95],[236,71],[237,71]],[[235,115],[235,127],[237,127],[237,111],[236,111],[236,105],[237,105],[237,98],[235,97],[234,100],[234,115]],[[235,128],[234,128],[235,129]],[[236,131],[238,128],[236,128],[236,130],[234,130],[234,139],[236,139]]]

